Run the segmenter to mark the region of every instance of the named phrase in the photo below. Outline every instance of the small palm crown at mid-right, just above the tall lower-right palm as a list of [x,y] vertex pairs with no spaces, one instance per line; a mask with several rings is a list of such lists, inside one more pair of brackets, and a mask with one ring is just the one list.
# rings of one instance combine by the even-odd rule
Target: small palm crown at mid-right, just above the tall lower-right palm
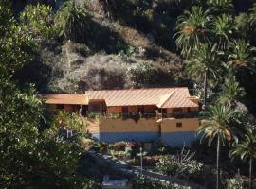
[[230,104],[236,106],[236,103],[245,95],[244,88],[239,86],[239,82],[229,70],[228,77],[225,79],[222,85],[222,91],[219,94],[217,102],[220,104]]

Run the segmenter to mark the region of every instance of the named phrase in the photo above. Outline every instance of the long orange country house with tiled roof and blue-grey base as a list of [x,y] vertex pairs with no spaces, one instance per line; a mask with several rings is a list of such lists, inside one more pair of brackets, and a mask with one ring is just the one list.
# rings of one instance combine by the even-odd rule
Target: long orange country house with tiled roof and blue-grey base
[[87,129],[104,142],[160,139],[169,146],[190,146],[198,122],[198,98],[188,88],[86,91],[46,94],[53,110],[80,112]]

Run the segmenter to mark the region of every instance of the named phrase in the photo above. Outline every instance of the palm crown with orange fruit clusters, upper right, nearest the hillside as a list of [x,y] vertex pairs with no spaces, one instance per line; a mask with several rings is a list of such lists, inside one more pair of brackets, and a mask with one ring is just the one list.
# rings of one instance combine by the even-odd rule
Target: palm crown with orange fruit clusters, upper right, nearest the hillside
[[175,27],[177,32],[174,34],[181,54],[188,58],[192,49],[199,43],[209,42],[211,26],[212,18],[209,10],[203,10],[201,7],[192,7],[191,11],[185,10],[177,19]]

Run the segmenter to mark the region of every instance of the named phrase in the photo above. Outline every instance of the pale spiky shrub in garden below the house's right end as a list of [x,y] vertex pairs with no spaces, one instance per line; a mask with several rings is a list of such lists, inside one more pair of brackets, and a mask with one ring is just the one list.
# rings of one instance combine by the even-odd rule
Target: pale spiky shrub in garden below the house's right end
[[175,177],[189,178],[199,176],[203,172],[203,163],[199,163],[192,158],[194,153],[184,148],[177,155],[164,156],[156,163],[156,169],[161,173],[173,175]]

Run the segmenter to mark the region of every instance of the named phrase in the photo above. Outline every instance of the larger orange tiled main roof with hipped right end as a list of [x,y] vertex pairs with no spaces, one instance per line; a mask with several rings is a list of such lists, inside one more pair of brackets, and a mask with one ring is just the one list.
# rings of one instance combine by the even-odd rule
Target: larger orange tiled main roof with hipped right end
[[107,106],[156,105],[158,108],[198,107],[188,88],[86,91],[89,100],[104,99]]

